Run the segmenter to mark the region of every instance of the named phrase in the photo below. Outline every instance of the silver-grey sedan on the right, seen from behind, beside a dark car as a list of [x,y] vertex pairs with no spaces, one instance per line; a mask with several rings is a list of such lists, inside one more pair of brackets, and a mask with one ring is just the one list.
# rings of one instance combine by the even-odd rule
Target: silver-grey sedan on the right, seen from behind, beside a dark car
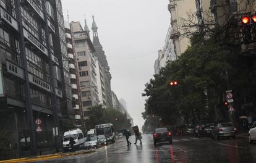
[[211,131],[211,138],[236,138],[236,128],[231,122],[228,123],[218,123],[215,128]]

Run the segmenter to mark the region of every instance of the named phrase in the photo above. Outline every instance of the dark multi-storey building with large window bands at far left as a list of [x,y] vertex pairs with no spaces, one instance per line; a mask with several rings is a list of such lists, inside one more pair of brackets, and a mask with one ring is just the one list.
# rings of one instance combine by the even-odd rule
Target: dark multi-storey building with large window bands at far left
[[0,12],[0,104],[1,114],[8,112],[1,129],[9,130],[16,143],[30,137],[36,154],[36,118],[41,119],[41,138],[48,141],[53,127],[63,132],[59,117],[74,118],[66,102],[71,87],[61,0],[1,1]]

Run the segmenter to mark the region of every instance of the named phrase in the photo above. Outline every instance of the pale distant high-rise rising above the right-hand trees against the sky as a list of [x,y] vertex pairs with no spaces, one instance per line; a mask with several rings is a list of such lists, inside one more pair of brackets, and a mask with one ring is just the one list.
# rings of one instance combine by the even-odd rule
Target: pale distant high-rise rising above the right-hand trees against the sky
[[158,51],[158,59],[155,61],[154,70],[155,74],[159,73],[162,67],[166,67],[168,62],[175,61],[177,56],[174,52],[174,44],[171,39],[171,26],[168,28],[168,32],[164,41],[163,49]]

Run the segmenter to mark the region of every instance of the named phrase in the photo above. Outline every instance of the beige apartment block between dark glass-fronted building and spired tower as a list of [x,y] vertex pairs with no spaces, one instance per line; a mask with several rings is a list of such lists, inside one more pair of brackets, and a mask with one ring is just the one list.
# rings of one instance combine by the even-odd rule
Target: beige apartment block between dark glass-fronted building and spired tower
[[95,48],[90,40],[89,31],[83,30],[79,22],[71,22],[70,27],[77,54],[80,106],[83,119],[87,119],[88,107],[99,104]]

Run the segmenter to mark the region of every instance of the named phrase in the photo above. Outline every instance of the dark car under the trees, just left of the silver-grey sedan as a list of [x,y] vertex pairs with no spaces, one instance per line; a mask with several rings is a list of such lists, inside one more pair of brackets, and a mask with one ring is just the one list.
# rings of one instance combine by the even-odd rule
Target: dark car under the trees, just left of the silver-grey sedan
[[194,133],[195,136],[203,137],[203,136],[211,136],[211,130],[214,128],[214,123],[210,123],[207,120],[202,120],[198,125],[195,126]]

